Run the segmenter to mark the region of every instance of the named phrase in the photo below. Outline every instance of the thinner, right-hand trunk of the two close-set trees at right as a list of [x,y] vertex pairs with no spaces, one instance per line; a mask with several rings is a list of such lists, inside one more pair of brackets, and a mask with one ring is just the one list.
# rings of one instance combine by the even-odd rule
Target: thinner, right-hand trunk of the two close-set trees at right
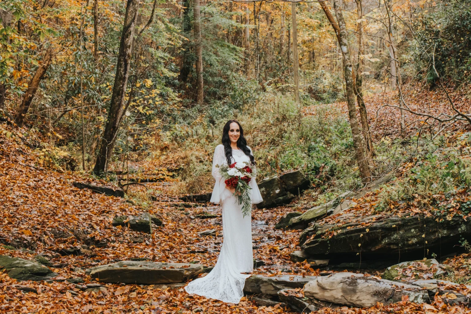
[[355,80],[355,94],[357,95],[357,104],[360,111],[360,120],[361,126],[363,129],[363,136],[365,138],[366,151],[365,156],[368,161],[370,161],[370,166],[373,161],[373,141],[370,134],[370,126],[368,124],[368,113],[366,112],[366,105],[363,99],[363,55],[365,55],[365,46],[363,44],[363,8],[361,0],[356,0],[357,2],[357,13],[358,13],[358,23],[357,23],[357,34],[358,34],[358,63],[357,63],[357,75]]

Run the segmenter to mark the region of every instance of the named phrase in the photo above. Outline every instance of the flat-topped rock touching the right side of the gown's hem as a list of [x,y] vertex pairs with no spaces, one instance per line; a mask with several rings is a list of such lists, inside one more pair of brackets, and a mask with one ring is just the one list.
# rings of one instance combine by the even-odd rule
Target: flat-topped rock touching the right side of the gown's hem
[[279,290],[302,288],[310,280],[317,276],[278,275],[268,277],[264,275],[252,275],[245,280],[244,292],[263,293],[276,296]]

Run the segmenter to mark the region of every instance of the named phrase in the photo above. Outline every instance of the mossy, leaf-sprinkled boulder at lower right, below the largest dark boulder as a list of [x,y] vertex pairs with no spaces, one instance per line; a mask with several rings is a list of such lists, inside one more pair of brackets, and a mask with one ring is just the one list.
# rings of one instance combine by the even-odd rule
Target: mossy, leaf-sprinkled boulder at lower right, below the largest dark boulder
[[[412,262],[402,262],[397,265],[389,266],[382,274],[383,279],[392,281],[402,281],[407,279],[415,279],[414,271],[418,273],[429,274],[431,278],[440,274],[445,274],[452,269],[451,267],[441,265],[435,258],[429,258],[426,260],[417,260]],[[405,270],[405,271],[403,271]],[[399,274],[401,272],[401,274]],[[429,277],[429,278],[430,278]],[[419,277],[420,278],[420,277]],[[427,279],[427,278],[426,278]]]

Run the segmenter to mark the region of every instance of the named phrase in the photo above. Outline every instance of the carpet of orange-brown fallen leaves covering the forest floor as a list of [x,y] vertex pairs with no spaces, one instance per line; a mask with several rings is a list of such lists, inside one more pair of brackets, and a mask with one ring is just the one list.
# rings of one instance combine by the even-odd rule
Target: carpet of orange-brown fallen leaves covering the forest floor
[[[417,95],[419,97],[420,95]],[[380,110],[383,96],[369,98],[370,109],[376,128],[375,138],[397,134],[398,110]],[[390,98],[393,98],[392,96]],[[440,98],[437,104],[447,104]],[[343,104],[333,104],[333,106]],[[417,105],[418,106],[418,105]],[[423,109],[423,104],[421,104]],[[433,107],[433,106],[432,106]],[[310,114],[313,108],[305,109]],[[378,111],[378,115],[376,115]],[[400,116],[400,115],[399,115]],[[410,116],[410,115],[409,115]],[[409,119],[409,117],[407,117]],[[412,117],[410,117],[412,123]],[[415,122],[414,122],[415,123]],[[389,130],[389,131],[388,131]],[[464,130],[462,130],[464,132]],[[57,267],[55,282],[16,282],[8,275],[0,275],[1,313],[193,313],[201,308],[203,313],[293,313],[280,306],[256,306],[250,298],[237,304],[224,304],[199,296],[190,296],[182,287],[157,285],[106,284],[106,290],[84,292],[68,278],[81,277],[85,283],[96,282],[83,273],[83,269],[114,263],[130,258],[145,258],[155,262],[197,262],[214,266],[222,237],[222,218],[219,206],[193,204],[195,207],[181,209],[174,193],[166,193],[178,180],[165,173],[156,183],[129,185],[128,199],[109,197],[89,190],[79,190],[75,181],[97,185],[112,185],[104,180],[94,180],[77,172],[51,170],[46,167],[46,151],[33,150],[34,135],[25,137],[21,130],[6,124],[0,125],[0,255],[25,259],[44,256]],[[46,160],[47,161],[47,160]],[[168,161],[166,161],[168,163]],[[167,165],[162,162],[162,166]],[[146,176],[162,176],[155,164],[136,167]],[[154,198],[151,200],[150,194]],[[374,198],[374,195],[371,195]],[[372,202],[372,198],[368,199]],[[365,201],[366,202],[366,201]],[[373,207],[361,206],[351,209],[358,216],[371,212]],[[313,269],[308,263],[293,263],[290,253],[299,250],[299,230],[274,229],[274,225],[287,212],[309,209],[305,198],[295,199],[292,204],[275,209],[253,209],[252,236],[254,258],[265,264],[255,268],[254,274],[275,276],[278,274],[318,275],[325,272]],[[387,215],[414,215],[414,208],[398,208]],[[114,227],[113,217],[138,215],[149,212],[159,217],[163,224],[152,234],[139,233],[127,227]],[[421,210],[422,212],[422,210]],[[198,214],[213,213],[214,218],[195,218]],[[423,212],[427,214],[426,211]],[[386,213],[385,213],[386,215]],[[325,221],[335,220],[334,216]],[[197,232],[216,229],[215,235],[201,236]],[[95,242],[107,242],[104,247],[87,246],[73,235],[80,230]],[[80,255],[61,255],[64,249],[80,249]],[[455,269],[456,277],[465,282],[471,278],[470,255],[450,258],[446,263]],[[263,262],[263,263],[262,263]],[[416,270],[420,275],[422,270]],[[423,270],[426,271],[426,270]],[[376,272],[375,275],[380,275]],[[15,289],[21,284],[32,288],[30,292]],[[124,287],[124,289],[123,289]],[[461,287],[460,289],[463,289]],[[462,291],[463,292],[463,291]],[[348,308],[346,306],[325,308],[319,313],[470,313],[462,306],[447,306],[439,298],[431,306],[413,304],[406,299],[398,304],[371,308]]]

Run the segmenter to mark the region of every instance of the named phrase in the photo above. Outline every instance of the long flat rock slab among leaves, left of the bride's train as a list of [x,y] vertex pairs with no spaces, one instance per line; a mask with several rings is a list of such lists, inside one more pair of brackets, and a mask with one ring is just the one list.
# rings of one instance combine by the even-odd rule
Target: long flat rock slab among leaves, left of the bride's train
[[121,261],[92,267],[87,271],[100,282],[160,284],[185,282],[203,272],[203,265]]

